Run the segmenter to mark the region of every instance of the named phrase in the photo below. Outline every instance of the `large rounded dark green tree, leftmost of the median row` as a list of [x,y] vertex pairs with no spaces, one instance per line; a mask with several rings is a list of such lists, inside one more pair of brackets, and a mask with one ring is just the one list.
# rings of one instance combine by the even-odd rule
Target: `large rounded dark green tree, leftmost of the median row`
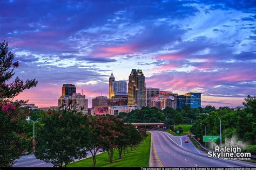
[[35,156],[55,167],[86,157],[87,117],[80,112],[50,112],[39,127]]

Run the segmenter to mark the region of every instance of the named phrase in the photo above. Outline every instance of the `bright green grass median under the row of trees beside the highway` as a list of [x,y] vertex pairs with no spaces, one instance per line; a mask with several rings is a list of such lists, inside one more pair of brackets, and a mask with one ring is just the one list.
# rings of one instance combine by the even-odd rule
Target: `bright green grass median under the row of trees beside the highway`
[[[118,151],[114,151],[113,163],[109,164],[109,156],[107,152],[96,155],[96,167],[149,167],[150,157],[150,140],[151,134],[135,150],[122,155],[121,159],[118,159]],[[92,157],[83,159],[77,162],[73,162],[67,167],[93,167]]]

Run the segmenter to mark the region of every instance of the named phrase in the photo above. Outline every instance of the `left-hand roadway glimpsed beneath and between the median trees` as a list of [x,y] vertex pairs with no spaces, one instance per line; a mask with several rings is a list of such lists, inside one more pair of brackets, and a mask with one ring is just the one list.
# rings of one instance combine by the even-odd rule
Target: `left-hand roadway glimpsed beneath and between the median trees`
[[[100,152],[97,152],[99,154]],[[91,152],[87,152],[86,158],[91,157]],[[77,161],[77,160],[75,160]],[[25,155],[17,160],[12,167],[53,167],[52,164],[48,164],[43,160],[36,159],[35,155]]]

